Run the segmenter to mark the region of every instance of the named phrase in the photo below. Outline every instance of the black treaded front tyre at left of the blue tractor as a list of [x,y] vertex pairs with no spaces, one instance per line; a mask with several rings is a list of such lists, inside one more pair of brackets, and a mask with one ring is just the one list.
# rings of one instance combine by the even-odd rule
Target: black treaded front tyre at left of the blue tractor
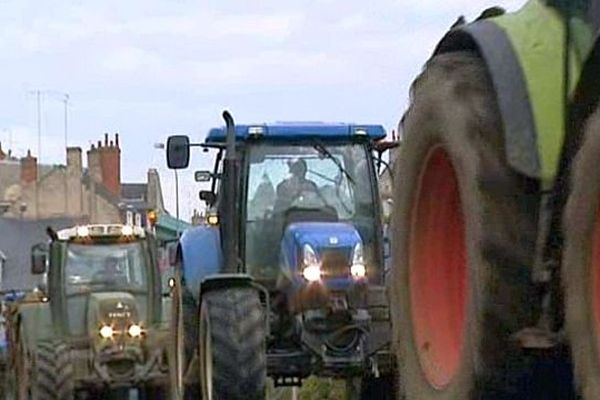
[[266,320],[256,290],[208,292],[200,307],[202,399],[262,400],[266,393]]

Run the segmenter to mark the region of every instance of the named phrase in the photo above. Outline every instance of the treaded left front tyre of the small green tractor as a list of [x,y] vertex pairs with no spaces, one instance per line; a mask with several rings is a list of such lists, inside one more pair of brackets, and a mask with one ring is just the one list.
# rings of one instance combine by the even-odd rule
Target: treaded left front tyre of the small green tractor
[[73,364],[65,343],[54,340],[38,342],[34,382],[36,399],[75,398]]

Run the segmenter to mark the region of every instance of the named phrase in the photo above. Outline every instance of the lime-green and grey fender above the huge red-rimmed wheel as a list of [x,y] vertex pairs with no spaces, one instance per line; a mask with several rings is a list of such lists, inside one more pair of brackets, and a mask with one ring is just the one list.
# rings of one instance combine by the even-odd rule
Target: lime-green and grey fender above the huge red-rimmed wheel
[[559,168],[566,94],[575,91],[591,50],[591,26],[577,21],[577,40],[569,41],[568,79],[564,17],[541,0],[530,0],[514,14],[460,25],[435,51],[470,50],[482,57],[504,123],[507,161],[519,173],[541,180],[545,188],[554,183]]

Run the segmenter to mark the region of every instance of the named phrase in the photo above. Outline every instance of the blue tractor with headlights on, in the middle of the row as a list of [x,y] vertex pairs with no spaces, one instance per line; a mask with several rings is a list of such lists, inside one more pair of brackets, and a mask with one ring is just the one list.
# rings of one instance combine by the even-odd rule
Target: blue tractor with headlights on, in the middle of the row
[[345,379],[350,398],[392,396],[375,125],[274,124],[172,136],[170,168],[216,151],[206,224],[179,241],[172,282],[174,386],[203,399],[263,399],[267,376]]

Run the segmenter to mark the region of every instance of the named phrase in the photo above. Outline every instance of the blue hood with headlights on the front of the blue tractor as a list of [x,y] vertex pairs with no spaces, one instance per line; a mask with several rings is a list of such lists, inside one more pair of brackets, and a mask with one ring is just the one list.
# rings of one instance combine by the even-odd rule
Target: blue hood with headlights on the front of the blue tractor
[[350,273],[354,249],[362,240],[353,225],[342,222],[301,222],[290,224],[283,235],[283,273],[292,282],[305,284],[302,276],[305,247],[309,246],[321,266],[323,284],[344,290],[354,283]]

